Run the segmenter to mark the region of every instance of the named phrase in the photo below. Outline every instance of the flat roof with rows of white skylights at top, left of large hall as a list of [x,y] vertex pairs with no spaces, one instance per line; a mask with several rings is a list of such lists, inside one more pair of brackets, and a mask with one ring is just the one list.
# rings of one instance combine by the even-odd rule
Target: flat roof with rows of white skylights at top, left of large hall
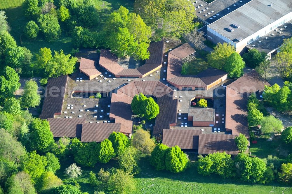
[[[202,20],[205,20],[206,22],[211,24],[211,23],[215,22],[216,20],[218,20],[219,18],[236,10],[237,8],[239,8],[240,6],[243,6],[244,4],[248,3],[251,0],[239,0],[239,1],[215,0],[215,1],[212,1],[211,3],[206,3],[205,1],[199,1],[199,0],[196,0],[196,1],[197,1],[197,3],[194,3],[194,6],[195,6],[195,9],[197,12],[196,15],[198,17],[200,17]],[[233,6],[234,4],[236,4],[237,6]],[[203,5],[203,6],[200,6],[200,5]],[[199,6],[199,8],[198,8],[198,6]],[[206,8],[208,8],[208,9],[206,9]],[[213,17],[214,15],[216,17]],[[210,18],[212,18],[212,19],[210,19]]]

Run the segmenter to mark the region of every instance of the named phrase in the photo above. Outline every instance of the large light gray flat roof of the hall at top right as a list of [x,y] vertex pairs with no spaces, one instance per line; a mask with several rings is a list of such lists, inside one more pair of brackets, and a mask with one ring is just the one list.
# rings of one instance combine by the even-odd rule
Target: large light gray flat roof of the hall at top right
[[[207,27],[230,40],[240,37],[246,38],[287,15],[291,10],[292,1],[252,0]],[[232,24],[238,24],[240,28],[231,27],[234,31],[226,31],[226,28],[232,26]]]

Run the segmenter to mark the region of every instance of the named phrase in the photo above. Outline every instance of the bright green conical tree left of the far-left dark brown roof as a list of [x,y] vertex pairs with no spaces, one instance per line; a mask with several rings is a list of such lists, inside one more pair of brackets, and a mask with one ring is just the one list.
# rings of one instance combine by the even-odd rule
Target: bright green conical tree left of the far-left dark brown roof
[[41,96],[38,94],[38,86],[36,81],[29,80],[25,82],[25,86],[21,97],[22,105],[24,107],[36,107],[41,101]]

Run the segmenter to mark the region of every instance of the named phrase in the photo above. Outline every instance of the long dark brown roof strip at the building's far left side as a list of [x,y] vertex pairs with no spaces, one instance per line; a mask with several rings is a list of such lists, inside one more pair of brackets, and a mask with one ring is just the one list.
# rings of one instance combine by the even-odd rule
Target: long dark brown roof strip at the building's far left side
[[62,112],[67,79],[68,75],[61,75],[57,78],[48,79],[40,115],[41,119],[54,118],[55,113]]

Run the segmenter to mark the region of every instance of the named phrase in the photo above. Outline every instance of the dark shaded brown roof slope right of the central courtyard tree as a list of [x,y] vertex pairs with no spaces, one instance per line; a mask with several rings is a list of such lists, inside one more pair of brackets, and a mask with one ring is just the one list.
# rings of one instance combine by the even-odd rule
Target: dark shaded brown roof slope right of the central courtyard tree
[[160,98],[157,98],[159,105],[159,114],[155,120],[153,127],[153,135],[159,136],[163,129],[169,129],[170,124],[175,124],[177,121],[178,99],[173,99],[173,91]]

